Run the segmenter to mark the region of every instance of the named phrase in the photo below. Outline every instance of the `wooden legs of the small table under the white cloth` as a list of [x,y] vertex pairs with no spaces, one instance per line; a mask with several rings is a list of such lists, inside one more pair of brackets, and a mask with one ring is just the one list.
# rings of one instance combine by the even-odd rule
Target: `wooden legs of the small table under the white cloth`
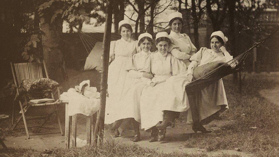
[[[70,125],[72,123],[72,147],[77,146],[77,114],[68,116],[68,101],[62,101],[65,103],[65,148],[70,148]],[[97,112],[93,116],[93,130],[97,120]],[[86,116],[86,134],[87,134],[87,145],[91,145],[91,116]],[[94,137],[94,136],[93,136]]]

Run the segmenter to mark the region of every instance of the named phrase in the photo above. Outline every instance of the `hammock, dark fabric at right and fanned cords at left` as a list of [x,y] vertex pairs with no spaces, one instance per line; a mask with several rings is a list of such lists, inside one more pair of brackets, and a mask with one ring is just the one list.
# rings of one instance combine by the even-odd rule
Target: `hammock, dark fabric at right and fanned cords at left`
[[[83,28],[81,30],[78,29],[78,34],[88,54],[97,41],[103,41],[103,35],[101,33],[103,33],[103,31]],[[273,34],[275,33],[271,33],[268,37],[270,37]],[[260,40],[258,43],[255,43],[250,49],[233,58],[232,60],[228,61],[227,63],[218,66],[214,70],[202,75],[200,78],[186,85],[187,95],[193,95],[196,92],[206,88],[210,84],[220,80],[222,77],[244,69],[245,59],[250,54],[252,49],[254,47],[258,47],[268,37]],[[119,34],[111,34],[111,40],[118,40],[120,38],[121,36]]]

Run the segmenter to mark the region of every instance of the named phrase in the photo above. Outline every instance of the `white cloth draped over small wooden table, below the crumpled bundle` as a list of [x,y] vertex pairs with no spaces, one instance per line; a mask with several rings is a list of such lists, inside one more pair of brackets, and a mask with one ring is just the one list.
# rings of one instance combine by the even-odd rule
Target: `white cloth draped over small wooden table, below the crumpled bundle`
[[[97,92],[97,95],[100,93]],[[60,95],[60,100],[69,101],[68,103],[68,115],[73,116],[75,114],[83,114],[85,116],[91,116],[95,114],[100,107],[100,99],[87,98],[78,93],[74,88],[70,88],[67,92],[63,92]]]

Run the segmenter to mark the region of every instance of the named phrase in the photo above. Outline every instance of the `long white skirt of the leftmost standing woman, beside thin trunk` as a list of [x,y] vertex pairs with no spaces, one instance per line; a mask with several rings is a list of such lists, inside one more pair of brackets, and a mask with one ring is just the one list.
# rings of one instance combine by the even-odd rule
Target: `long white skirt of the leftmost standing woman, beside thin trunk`
[[135,80],[129,77],[129,73],[125,70],[125,63],[129,57],[115,57],[109,65],[107,92],[105,106],[105,124],[111,124],[116,120],[124,118],[138,117],[134,110],[134,106],[123,103],[125,96]]

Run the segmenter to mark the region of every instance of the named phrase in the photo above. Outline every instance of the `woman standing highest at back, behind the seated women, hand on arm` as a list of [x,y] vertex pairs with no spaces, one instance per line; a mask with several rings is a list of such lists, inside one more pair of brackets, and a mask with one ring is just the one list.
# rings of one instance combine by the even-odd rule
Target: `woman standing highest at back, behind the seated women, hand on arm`
[[178,59],[183,59],[183,62],[186,64],[187,68],[190,64],[190,57],[194,55],[197,51],[197,48],[192,43],[190,37],[183,33],[181,34],[180,31],[182,29],[183,20],[182,14],[180,12],[171,13],[168,16],[169,19],[169,26],[172,28],[170,31],[170,41],[172,44],[177,45],[181,52],[176,55],[176,52],[171,52]]

